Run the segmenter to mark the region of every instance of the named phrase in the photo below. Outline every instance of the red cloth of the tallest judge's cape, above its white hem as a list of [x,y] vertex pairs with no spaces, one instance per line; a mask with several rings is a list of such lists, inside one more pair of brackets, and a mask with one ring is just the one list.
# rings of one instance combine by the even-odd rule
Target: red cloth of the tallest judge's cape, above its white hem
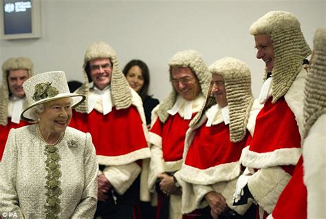
[[249,150],[263,153],[281,148],[301,148],[301,136],[284,97],[275,104],[271,97],[257,115]]

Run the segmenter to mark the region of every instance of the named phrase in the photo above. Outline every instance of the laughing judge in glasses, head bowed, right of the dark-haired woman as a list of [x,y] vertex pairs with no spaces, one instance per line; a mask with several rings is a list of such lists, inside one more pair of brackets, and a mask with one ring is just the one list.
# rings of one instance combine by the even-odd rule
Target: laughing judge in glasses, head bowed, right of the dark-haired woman
[[184,137],[189,122],[204,104],[210,75],[194,50],[178,52],[169,66],[173,90],[152,111],[149,189],[158,192],[157,218],[181,219],[182,190],[176,177],[182,165]]

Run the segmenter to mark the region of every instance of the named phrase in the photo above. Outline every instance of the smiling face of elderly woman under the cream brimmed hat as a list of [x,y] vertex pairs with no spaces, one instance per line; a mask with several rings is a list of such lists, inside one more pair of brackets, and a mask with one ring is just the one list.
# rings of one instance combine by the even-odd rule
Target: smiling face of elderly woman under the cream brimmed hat
[[72,100],[64,98],[44,104],[44,111],[39,114],[40,127],[46,132],[61,133],[72,119]]

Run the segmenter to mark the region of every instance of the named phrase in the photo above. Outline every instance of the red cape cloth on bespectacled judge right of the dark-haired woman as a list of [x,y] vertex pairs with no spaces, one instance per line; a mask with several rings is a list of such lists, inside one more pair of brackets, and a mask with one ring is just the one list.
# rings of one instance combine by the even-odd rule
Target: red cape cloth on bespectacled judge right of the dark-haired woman
[[[193,113],[193,116],[195,113]],[[192,116],[192,117],[193,117]],[[183,119],[179,113],[170,115],[163,124],[157,118],[151,132],[162,137],[162,150],[164,161],[179,161],[184,152],[184,139],[191,119]]]

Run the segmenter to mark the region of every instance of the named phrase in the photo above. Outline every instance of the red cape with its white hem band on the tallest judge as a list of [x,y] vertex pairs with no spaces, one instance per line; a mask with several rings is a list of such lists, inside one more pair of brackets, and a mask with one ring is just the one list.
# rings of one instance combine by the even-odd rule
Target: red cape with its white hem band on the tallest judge
[[281,166],[292,175],[300,154],[301,135],[294,113],[284,97],[275,104],[270,97],[257,115],[252,141],[241,155],[242,164],[254,170]]

